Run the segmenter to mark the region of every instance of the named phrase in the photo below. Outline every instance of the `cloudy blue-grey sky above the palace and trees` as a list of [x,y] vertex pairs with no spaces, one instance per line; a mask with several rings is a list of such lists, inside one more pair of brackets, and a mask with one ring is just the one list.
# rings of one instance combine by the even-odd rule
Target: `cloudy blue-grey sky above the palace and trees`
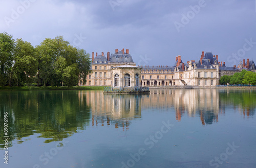
[[0,2],[0,33],[33,46],[63,36],[92,52],[129,49],[136,65],[173,66],[202,51],[226,66],[256,60],[256,0],[11,0]]

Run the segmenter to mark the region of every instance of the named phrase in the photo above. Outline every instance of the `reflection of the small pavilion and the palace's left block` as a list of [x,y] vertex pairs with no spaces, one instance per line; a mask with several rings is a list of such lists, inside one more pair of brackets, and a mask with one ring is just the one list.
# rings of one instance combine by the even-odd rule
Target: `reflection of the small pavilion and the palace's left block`
[[141,118],[142,96],[88,91],[87,104],[91,105],[92,127],[115,125],[115,128],[129,129],[132,119]]

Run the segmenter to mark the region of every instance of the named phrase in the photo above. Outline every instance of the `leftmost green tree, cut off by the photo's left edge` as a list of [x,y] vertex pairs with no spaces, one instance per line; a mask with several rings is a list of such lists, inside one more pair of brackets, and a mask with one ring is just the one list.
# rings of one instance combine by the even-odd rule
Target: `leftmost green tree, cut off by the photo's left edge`
[[0,86],[8,84],[13,65],[15,41],[8,33],[0,33]]

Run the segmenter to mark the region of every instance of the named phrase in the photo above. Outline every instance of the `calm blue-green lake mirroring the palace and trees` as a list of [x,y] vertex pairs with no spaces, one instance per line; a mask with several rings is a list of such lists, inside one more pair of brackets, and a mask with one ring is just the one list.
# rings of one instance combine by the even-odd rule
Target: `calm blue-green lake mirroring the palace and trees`
[[0,167],[256,167],[255,107],[244,89],[3,91]]

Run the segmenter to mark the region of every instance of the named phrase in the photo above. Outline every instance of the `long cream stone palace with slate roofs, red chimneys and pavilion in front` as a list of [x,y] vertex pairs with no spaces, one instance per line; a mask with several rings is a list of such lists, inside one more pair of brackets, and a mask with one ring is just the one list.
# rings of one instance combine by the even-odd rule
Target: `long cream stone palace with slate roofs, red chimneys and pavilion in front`
[[[256,71],[253,60],[240,61],[236,65],[227,67],[225,62],[219,62],[218,55],[211,52],[202,52],[200,60],[190,60],[186,63],[181,60],[181,56],[175,58],[174,66],[136,66],[129,50],[115,50],[114,54],[104,56],[92,53],[92,74],[87,76],[84,86],[149,86],[149,87],[170,87],[170,86],[204,86],[211,87],[219,85],[219,79],[224,75],[233,75],[242,69]],[[128,70],[123,70],[128,69]],[[130,69],[130,71],[129,71]],[[136,69],[136,70],[134,70]],[[122,74],[114,73],[122,71]],[[129,85],[126,85],[129,78]],[[122,84],[115,83],[118,81]],[[128,83],[127,83],[128,84]]]

